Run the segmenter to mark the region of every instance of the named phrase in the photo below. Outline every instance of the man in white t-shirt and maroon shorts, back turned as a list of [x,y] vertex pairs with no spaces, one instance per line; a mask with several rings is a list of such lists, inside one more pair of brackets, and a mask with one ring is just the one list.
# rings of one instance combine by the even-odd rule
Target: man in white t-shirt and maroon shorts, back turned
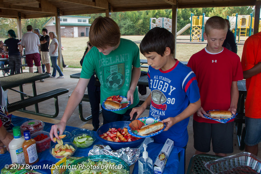
[[[27,33],[22,36],[21,44],[25,47],[25,58],[26,63],[29,67],[29,72],[33,73],[33,61],[34,65],[37,67],[39,73],[43,73],[41,67],[41,59],[38,50],[40,46],[40,40],[37,34],[33,33],[33,27],[31,25],[26,26]],[[41,80],[43,82],[43,80]]]

